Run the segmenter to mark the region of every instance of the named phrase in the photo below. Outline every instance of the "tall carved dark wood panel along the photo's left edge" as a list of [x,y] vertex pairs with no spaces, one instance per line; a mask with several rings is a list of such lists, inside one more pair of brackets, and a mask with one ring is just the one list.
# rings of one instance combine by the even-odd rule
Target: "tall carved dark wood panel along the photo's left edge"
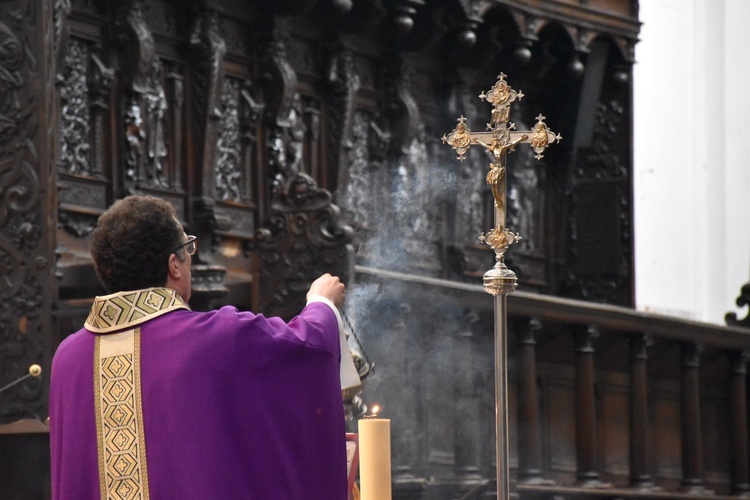
[[[35,3],[0,9],[0,384],[49,355],[53,279],[45,192],[52,182],[50,129],[54,82],[51,15]],[[47,47],[45,50],[44,47]],[[48,59],[36,59],[41,51]],[[32,84],[35,82],[35,84]],[[55,209],[51,212],[55,214]],[[44,384],[24,382],[0,394],[0,423],[40,418]]]

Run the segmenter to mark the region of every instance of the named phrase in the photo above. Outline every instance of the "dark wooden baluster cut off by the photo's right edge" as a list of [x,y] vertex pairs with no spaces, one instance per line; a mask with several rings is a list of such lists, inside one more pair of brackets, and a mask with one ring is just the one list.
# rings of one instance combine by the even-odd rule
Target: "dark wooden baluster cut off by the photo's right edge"
[[750,466],[747,436],[747,350],[730,352],[729,404],[731,449],[729,467],[733,495],[750,497]]

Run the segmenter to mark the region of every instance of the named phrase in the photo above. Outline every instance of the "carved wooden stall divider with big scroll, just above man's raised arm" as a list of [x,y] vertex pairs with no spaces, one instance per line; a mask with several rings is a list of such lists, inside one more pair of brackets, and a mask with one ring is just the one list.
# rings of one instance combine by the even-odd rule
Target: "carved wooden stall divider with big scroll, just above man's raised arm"
[[267,85],[277,97],[267,103],[272,120],[266,145],[272,179],[271,204],[258,250],[262,262],[259,301],[269,313],[290,316],[306,289],[323,272],[351,274],[351,229],[339,222],[331,194],[307,175],[305,140],[317,137],[304,122],[297,77],[286,57],[286,37],[274,33],[266,55]]

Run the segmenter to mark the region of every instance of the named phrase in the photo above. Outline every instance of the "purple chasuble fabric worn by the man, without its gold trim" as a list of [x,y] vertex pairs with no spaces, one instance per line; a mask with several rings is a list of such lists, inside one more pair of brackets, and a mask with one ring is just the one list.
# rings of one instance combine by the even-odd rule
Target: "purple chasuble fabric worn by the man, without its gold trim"
[[[328,305],[310,303],[289,323],[223,307],[136,327],[151,499],[347,498],[341,351]],[[69,336],[52,363],[59,500],[100,498],[96,336]]]

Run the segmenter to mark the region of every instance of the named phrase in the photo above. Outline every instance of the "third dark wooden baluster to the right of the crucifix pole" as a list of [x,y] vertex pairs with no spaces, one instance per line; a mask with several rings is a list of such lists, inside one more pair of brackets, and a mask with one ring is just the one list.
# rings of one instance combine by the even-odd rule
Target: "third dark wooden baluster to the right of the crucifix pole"
[[647,349],[650,335],[630,339],[630,486],[654,489],[649,470]]

